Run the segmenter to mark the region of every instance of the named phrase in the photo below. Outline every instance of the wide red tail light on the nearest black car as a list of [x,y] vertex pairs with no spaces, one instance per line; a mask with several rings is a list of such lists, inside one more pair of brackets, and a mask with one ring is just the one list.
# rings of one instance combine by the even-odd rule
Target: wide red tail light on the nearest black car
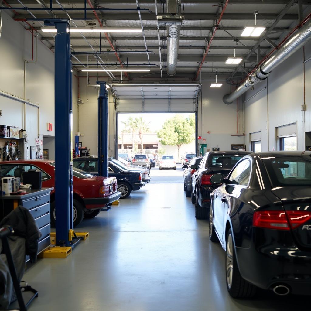
[[253,216],[253,226],[268,229],[296,229],[311,219],[307,211],[256,211]]

